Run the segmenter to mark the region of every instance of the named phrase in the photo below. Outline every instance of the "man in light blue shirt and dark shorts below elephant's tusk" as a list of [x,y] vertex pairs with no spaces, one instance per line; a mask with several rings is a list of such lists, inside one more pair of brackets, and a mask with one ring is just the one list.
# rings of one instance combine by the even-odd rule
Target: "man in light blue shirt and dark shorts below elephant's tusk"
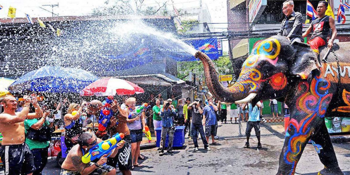
[[[243,106],[243,110],[246,109],[247,104]],[[261,103],[258,102],[254,107],[251,103],[248,103],[248,115],[249,119],[247,121],[247,128],[245,130],[245,135],[247,137],[247,142],[244,145],[244,148],[249,148],[249,138],[250,138],[250,132],[252,131],[252,128],[254,127],[255,135],[258,138],[258,146],[257,148],[261,148],[260,143],[260,107]]]

